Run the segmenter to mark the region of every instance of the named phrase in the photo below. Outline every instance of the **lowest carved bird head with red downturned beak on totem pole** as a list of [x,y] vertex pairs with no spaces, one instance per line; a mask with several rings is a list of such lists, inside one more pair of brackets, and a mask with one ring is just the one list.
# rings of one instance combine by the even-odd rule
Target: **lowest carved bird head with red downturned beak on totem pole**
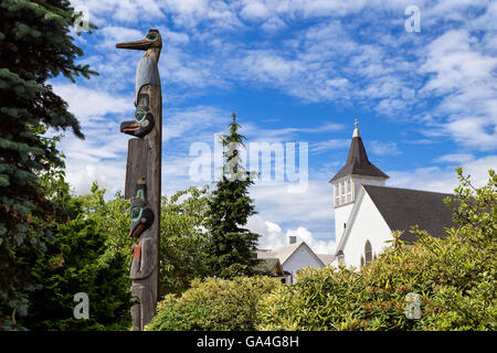
[[147,185],[142,181],[138,181],[136,188],[136,197],[131,200],[131,227],[129,229],[130,237],[140,237],[154,223],[154,212],[147,202]]

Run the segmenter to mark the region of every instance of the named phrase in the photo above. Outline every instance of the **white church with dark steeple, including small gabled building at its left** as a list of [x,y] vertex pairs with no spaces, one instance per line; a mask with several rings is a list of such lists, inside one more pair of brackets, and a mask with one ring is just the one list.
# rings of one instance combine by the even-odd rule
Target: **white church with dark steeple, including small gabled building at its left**
[[315,254],[295,238],[288,246],[256,254],[261,259],[278,259],[287,282],[295,281],[297,271],[308,266],[368,265],[391,245],[388,240],[393,239],[393,231],[403,231],[401,239],[411,243],[416,240],[409,232],[413,225],[435,237],[446,236],[444,227],[453,226],[452,211],[443,202],[453,195],[385,186],[389,175],[369,161],[357,120],[355,125],[347,161],[329,181],[334,186],[334,254]]

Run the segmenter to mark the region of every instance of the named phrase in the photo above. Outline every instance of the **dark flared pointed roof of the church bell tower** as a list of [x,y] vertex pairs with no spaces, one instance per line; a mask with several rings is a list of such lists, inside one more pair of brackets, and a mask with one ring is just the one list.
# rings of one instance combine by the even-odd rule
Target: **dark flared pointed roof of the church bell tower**
[[362,143],[362,139],[360,136],[356,136],[352,138],[352,142],[350,142],[349,156],[347,157],[347,162],[343,168],[340,169],[334,178],[331,178],[330,182],[351,174],[389,178],[389,175],[383,173],[380,169],[378,169],[373,163],[369,161],[364,145]]

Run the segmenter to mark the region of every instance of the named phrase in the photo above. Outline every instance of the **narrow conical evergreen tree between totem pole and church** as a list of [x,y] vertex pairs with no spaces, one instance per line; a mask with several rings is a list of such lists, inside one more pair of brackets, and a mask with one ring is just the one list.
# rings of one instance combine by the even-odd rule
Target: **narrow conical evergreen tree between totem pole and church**
[[211,236],[208,246],[211,268],[220,277],[253,274],[256,264],[253,253],[260,237],[243,228],[247,218],[255,214],[255,206],[248,196],[248,188],[254,182],[251,173],[241,165],[240,151],[245,148],[245,137],[237,132],[240,125],[235,118],[233,114],[230,133],[221,137],[225,163],[221,180],[209,200],[210,215],[207,221]]

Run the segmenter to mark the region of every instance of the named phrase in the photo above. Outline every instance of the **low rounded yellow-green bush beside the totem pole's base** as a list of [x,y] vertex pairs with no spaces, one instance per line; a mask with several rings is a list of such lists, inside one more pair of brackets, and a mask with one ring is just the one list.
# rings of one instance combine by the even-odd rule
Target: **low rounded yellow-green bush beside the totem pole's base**
[[264,276],[197,279],[181,297],[166,296],[146,330],[255,330],[260,300],[281,286]]

